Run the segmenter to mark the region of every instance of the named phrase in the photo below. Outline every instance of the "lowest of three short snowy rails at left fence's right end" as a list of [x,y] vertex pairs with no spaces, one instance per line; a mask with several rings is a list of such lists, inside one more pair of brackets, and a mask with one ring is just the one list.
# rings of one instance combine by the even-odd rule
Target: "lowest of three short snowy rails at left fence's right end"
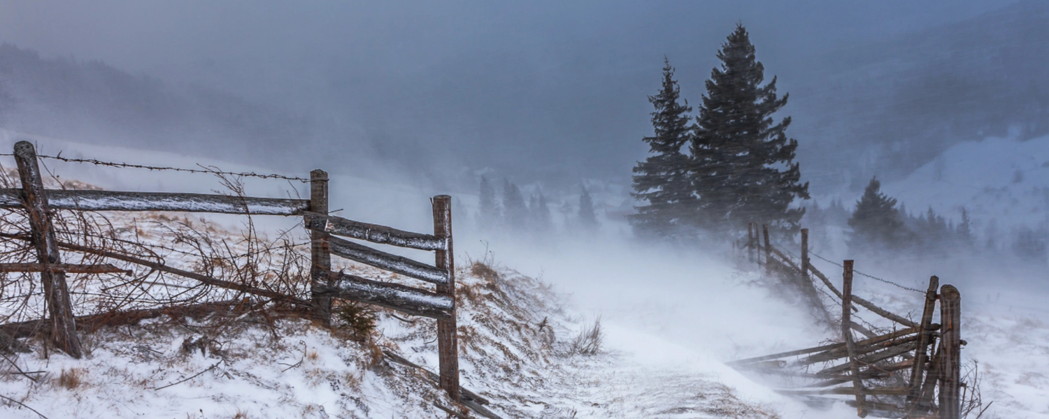
[[374,304],[411,315],[445,319],[452,316],[455,300],[425,289],[371,281],[341,272],[330,273],[333,286],[321,292],[329,297]]

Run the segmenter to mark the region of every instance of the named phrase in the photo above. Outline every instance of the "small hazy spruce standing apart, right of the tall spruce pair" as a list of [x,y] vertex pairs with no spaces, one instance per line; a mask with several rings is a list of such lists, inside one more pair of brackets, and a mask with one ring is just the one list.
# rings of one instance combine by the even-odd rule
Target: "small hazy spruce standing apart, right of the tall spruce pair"
[[890,249],[900,246],[907,230],[896,208],[896,198],[881,193],[881,182],[871,178],[863,196],[856,202],[856,211],[849,219],[853,233],[849,238],[851,249]]

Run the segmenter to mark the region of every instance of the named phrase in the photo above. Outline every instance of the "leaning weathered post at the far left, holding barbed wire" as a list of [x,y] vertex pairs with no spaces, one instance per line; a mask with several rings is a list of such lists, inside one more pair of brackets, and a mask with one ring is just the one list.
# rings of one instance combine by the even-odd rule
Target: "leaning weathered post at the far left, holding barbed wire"
[[[37,151],[29,141],[15,144],[15,161],[18,175],[22,179],[22,199],[29,217],[29,229],[37,258],[43,265],[62,263],[55,229],[48,214],[47,195],[44,180],[37,163]],[[80,358],[82,349],[77,336],[77,321],[72,315],[72,303],[66,285],[65,272],[44,270],[40,272],[44,286],[44,300],[51,316],[51,339],[55,346],[74,358]]]

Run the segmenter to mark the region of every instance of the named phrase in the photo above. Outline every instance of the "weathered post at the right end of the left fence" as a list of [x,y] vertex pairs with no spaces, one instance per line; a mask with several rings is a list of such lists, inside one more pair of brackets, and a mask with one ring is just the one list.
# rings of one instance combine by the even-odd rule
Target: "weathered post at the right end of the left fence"
[[[433,197],[433,235],[445,239],[445,248],[436,250],[436,267],[448,270],[448,283],[437,285],[437,293],[455,299],[455,261],[452,250],[452,197]],[[437,321],[437,357],[441,363],[441,388],[452,400],[459,399],[458,339],[455,334],[455,307],[449,319]]]

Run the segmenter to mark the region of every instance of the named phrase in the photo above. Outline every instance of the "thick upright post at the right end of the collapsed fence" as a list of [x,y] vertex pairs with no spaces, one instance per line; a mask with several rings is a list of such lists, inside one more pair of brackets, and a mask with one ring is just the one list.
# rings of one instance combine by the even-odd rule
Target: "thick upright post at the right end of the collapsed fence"
[[958,288],[940,288],[940,345],[943,350],[940,374],[940,419],[959,419],[961,415],[961,300]]

